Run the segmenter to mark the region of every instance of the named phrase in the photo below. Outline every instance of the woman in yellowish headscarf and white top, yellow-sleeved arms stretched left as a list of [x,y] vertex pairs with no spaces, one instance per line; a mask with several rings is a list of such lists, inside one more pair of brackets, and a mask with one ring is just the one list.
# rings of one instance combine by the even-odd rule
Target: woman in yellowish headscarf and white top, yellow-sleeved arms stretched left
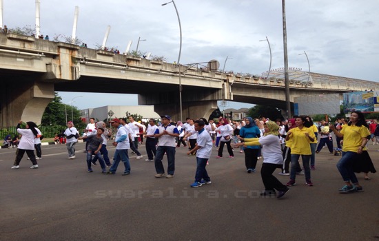
[[277,198],[282,198],[289,188],[272,175],[276,168],[281,168],[283,165],[282,147],[278,138],[279,126],[274,121],[268,121],[263,125],[265,126],[264,136],[260,138],[244,138],[245,143],[238,143],[236,146],[262,146],[263,164],[262,169],[260,169],[260,176],[262,176],[265,190],[260,195],[275,195],[275,190],[277,190]]

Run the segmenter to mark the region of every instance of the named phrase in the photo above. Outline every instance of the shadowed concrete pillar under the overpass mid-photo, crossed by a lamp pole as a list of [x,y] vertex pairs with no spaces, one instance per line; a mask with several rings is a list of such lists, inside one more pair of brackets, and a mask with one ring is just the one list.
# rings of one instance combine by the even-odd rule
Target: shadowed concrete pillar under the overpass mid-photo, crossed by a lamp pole
[[185,118],[206,118],[217,109],[217,101],[197,101],[197,102],[185,102],[183,103],[183,119],[180,120],[179,105],[174,104],[156,104],[154,105],[154,112],[159,115],[169,115],[172,121],[185,121]]

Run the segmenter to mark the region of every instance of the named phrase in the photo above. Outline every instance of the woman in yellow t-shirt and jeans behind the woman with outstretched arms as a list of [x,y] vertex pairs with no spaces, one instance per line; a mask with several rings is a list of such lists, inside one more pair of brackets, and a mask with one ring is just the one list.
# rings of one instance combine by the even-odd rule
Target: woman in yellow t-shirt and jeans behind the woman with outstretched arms
[[309,145],[316,138],[313,130],[305,127],[309,126],[309,122],[304,116],[298,116],[295,118],[296,128],[287,132],[285,140],[292,140],[291,144],[291,174],[289,176],[289,182],[287,186],[291,187],[296,185],[296,166],[301,156],[303,160],[303,167],[305,172],[305,183],[308,186],[313,186],[311,182],[311,169],[309,168],[309,161],[311,158],[311,146]]

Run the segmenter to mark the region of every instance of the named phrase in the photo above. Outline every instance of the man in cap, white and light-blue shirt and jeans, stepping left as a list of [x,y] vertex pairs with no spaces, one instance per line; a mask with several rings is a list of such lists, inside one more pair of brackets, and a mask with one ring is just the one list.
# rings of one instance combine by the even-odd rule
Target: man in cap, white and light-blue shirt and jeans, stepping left
[[112,144],[114,147],[116,147],[116,151],[114,152],[112,167],[110,167],[110,170],[107,171],[107,174],[116,174],[117,167],[122,160],[125,166],[123,176],[129,175],[130,162],[129,156],[127,156],[127,149],[130,149],[130,144],[127,130],[123,127],[123,125],[121,125],[121,121],[118,118],[114,118],[112,121],[110,121],[110,124],[112,127],[117,129],[114,143]]

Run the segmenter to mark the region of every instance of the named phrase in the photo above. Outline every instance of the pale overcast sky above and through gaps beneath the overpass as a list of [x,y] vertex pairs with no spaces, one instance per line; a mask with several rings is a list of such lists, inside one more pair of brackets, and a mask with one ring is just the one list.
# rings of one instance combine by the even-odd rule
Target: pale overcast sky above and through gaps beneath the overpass
[[[70,36],[75,6],[79,6],[76,36],[89,48],[101,45],[107,25],[111,26],[107,46],[124,52],[131,50],[141,36],[139,50],[177,61],[178,19],[167,0],[41,0],[41,34]],[[220,62],[227,56],[225,70],[262,74],[269,68],[283,67],[283,21],[280,0],[176,0],[181,18],[183,45],[181,63],[211,59]],[[3,0],[3,24],[8,28],[35,23],[34,0]],[[287,50],[289,67],[311,72],[378,81],[379,1],[378,0],[287,0]],[[114,104],[137,105],[136,95],[59,92],[63,103],[80,109]],[[99,94],[97,94],[99,95]],[[252,104],[230,103],[229,107]]]

